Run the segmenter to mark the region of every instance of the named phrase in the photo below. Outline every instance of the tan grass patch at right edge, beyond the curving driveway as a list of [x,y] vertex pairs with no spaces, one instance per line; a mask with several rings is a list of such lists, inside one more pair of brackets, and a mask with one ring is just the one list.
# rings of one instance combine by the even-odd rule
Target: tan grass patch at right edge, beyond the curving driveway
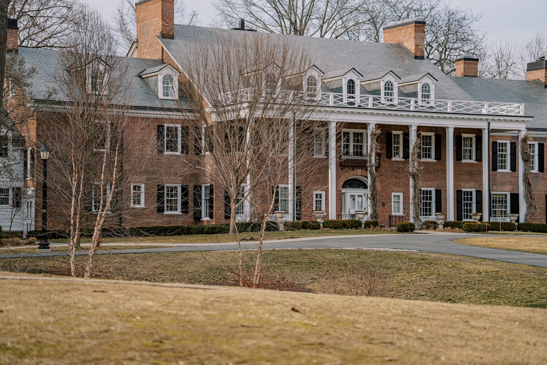
[[500,248],[501,250],[547,254],[547,236],[543,237],[474,237],[455,240],[458,244]]

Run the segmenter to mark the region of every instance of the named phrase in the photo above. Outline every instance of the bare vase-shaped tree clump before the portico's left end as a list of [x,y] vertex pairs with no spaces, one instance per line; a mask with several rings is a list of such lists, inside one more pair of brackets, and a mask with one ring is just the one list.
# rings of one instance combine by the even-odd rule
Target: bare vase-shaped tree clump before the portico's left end
[[[240,285],[242,252],[236,217],[246,201],[252,202],[253,212],[246,218],[253,215],[261,221],[253,279],[258,285],[264,231],[276,206],[275,187],[287,183],[291,173],[292,178],[304,178],[318,161],[312,153],[296,153],[297,146],[308,151],[312,146],[312,123],[302,122],[310,120],[313,110],[302,91],[310,62],[294,44],[257,33],[210,43],[196,40],[182,59],[189,77],[183,83],[184,93],[197,113],[190,130],[203,141],[200,152],[205,159],[197,164],[188,159],[188,163],[225,190],[230,232],[237,236],[240,253]],[[211,74],[217,77],[212,79]]]

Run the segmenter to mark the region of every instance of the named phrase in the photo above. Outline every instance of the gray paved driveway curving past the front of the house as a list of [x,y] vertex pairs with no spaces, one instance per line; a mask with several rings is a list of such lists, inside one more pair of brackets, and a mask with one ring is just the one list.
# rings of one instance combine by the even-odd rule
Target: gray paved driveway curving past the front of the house
[[[456,254],[461,256],[476,257],[488,260],[509,262],[547,268],[547,255],[516,252],[509,250],[497,250],[478,246],[456,244],[452,240],[479,235],[464,233],[427,233],[427,234],[372,234],[350,236],[328,236],[314,238],[299,238],[276,241],[265,241],[265,249],[282,248],[371,248],[380,250],[409,250],[423,252],[437,252]],[[522,236],[520,236],[522,237]],[[496,237],[492,236],[495,240]],[[242,242],[242,247],[252,250],[257,247],[257,242]],[[106,248],[103,246],[103,248]],[[180,251],[229,251],[236,250],[234,242],[223,244],[178,244],[176,246],[161,248],[138,248],[131,250],[98,251],[97,254],[123,254],[123,253],[155,253],[155,252],[180,252]],[[85,251],[77,254],[88,254]],[[66,252],[42,252],[0,255],[0,258],[39,257],[39,256],[66,256]]]

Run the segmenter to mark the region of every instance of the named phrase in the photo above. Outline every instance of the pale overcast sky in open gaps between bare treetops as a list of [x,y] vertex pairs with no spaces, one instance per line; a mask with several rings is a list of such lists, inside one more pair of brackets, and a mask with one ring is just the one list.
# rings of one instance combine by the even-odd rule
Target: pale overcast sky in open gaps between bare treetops
[[[120,1],[88,0],[108,20],[112,19]],[[488,43],[498,42],[500,39],[517,44],[526,43],[537,33],[543,33],[547,37],[547,0],[452,0],[451,4],[453,7],[482,14],[479,26],[488,33]],[[214,8],[208,0],[185,0],[185,5],[188,11],[197,11],[203,26],[207,26],[214,16]]]

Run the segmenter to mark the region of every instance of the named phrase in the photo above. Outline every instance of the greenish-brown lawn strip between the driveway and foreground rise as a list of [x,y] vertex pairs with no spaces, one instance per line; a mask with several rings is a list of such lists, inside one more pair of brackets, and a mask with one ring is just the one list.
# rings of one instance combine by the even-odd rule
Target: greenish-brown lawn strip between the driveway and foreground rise
[[[254,265],[245,251],[245,270]],[[77,257],[79,275],[86,257]],[[547,308],[547,269],[423,252],[266,250],[261,287],[432,302]],[[68,258],[0,259],[0,270],[68,275]],[[102,279],[236,285],[236,252],[95,257]]]

